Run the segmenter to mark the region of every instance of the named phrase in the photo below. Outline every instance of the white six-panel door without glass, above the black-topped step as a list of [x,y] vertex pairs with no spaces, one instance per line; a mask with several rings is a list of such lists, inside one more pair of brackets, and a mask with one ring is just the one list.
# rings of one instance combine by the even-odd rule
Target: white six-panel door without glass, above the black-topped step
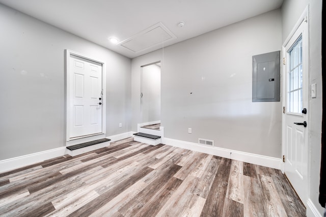
[[69,137],[102,133],[102,64],[70,54]]

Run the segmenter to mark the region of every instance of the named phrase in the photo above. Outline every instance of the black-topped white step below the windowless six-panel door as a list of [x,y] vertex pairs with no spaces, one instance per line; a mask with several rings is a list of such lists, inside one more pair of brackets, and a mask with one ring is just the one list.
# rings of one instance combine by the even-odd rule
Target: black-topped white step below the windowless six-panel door
[[93,151],[102,147],[110,145],[111,139],[98,139],[91,142],[80,143],[76,145],[67,146],[68,154],[72,157],[78,154],[86,153],[88,151]]

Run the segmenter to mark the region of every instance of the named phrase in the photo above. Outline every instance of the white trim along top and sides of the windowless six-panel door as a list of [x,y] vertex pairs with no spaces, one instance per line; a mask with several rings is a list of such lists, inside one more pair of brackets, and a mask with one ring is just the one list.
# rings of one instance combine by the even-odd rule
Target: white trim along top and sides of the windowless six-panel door
[[[70,54],[75,55],[75,56],[79,56],[85,59],[89,59],[92,61],[95,61],[97,63],[102,64],[102,89],[103,89],[103,95],[102,95],[102,134],[104,134],[105,136],[105,132],[106,132],[106,125],[105,125],[105,120],[106,120],[106,71],[105,71],[105,67],[106,64],[104,61],[99,60],[97,58],[93,58],[84,54],[80,54],[78,52],[72,51],[72,50],[65,50],[65,59],[66,59],[66,65],[65,65],[65,73],[66,73],[66,141],[69,142],[70,140],[70,136],[69,136],[69,115],[70,115],[70,110],[69,110],[69,105],[70,105],[70,101],[69,101],[69,95],[70,95],[70,88],[69,88],[69,66],[70,66]],[[79,137],[79,138],[85,138],[84,136]],[[78,138],[78,139],[79,139]]]

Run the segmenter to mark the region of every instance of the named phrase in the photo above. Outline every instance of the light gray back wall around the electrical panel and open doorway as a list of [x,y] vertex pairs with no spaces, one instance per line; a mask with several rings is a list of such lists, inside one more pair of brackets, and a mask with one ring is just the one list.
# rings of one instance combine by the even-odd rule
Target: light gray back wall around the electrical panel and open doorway
[[281,50],[281,30],[275,10],[132,59],[132,129],[140,66],[161,60],[166,138],[281,158],[281,102],[252,102],[252,56]]

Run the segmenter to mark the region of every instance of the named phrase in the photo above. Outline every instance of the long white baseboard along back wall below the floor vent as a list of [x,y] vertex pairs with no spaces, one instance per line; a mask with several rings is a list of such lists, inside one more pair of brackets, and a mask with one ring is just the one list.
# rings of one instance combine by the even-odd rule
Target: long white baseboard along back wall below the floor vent
[[262,156],[259,154],[247,153],[247,152],[236,151],[236,150],[231,150],[226,148],[219,148],[219,147],[209,147],[205,145],[199,145],[193,142],[186,142],[186,141],[169,139],[169,138],[162,138],[162,143],[180,147],[180,148],[189,149],[189,150],[213,154],[215,156],[219,156],[223,158],[256,164],[264,167],[270,167],[274,169],[281,169],[281,165],[282,165],[282,161],[280,158]]

